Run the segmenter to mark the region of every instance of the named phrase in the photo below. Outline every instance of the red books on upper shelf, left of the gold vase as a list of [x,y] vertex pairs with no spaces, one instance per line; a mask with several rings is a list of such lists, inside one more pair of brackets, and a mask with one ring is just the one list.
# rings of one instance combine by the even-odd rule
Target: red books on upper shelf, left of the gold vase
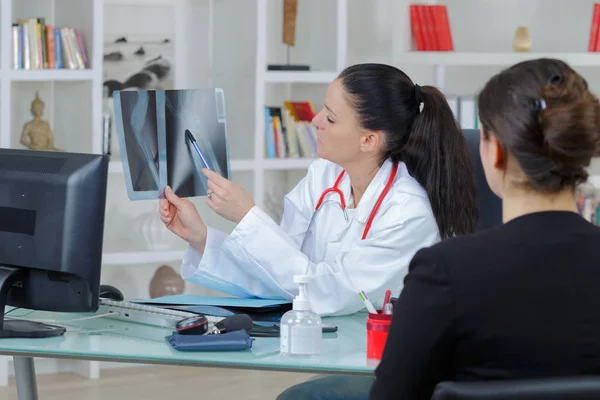
[[411,4],[410,25],[418,51],[454,50],[446,6]]

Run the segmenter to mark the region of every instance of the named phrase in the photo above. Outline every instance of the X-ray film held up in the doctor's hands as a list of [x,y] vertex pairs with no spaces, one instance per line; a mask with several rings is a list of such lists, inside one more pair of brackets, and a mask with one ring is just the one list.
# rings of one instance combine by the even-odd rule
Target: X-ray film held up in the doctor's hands
[[128,197],[205,196],[208,168],[230,179],[221,89],[115,91],[115,122]]

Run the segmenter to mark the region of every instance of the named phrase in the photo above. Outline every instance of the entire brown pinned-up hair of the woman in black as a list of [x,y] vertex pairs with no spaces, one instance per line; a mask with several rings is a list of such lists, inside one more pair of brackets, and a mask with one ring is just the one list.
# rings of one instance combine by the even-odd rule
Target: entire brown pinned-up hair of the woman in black
[[600,150],[600,104],[563,61],[524,61],[500,72],[479,95],[484,137],[493,134],[542,192],[575,187]]

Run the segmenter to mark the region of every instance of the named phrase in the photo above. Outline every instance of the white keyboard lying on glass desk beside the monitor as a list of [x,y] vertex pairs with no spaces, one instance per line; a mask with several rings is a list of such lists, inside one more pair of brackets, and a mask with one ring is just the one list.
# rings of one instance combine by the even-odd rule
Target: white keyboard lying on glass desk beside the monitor
[[[106,318],[169,329],[175,329],[177,322],[184,318],[198,315],[187,311],[170,310],[162,307],[102,298],[100,299],[97,314],[107,314]],[[208,319],[209,323],[214,324],[223,318],[207,315],[206,319]]]

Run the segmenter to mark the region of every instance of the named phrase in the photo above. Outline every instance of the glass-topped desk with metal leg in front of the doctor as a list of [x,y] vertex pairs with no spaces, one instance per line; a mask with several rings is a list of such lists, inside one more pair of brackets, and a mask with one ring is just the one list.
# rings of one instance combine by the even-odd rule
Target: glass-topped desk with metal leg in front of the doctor
[[328,374],[372,374],[376,366],[366,357],[366,313],[324,318],[338,331],[323,334],[321,355],[314,358],[280,355],[279,338],[255,338],[245,351],[180,352],[165,340],[169,329],[108,318],[71,321],[89,315],[15,310],[7,316],[67,327],[54,338],[0,339],[0,355],[15,359],[19,400],[37,399],[34,357]]

